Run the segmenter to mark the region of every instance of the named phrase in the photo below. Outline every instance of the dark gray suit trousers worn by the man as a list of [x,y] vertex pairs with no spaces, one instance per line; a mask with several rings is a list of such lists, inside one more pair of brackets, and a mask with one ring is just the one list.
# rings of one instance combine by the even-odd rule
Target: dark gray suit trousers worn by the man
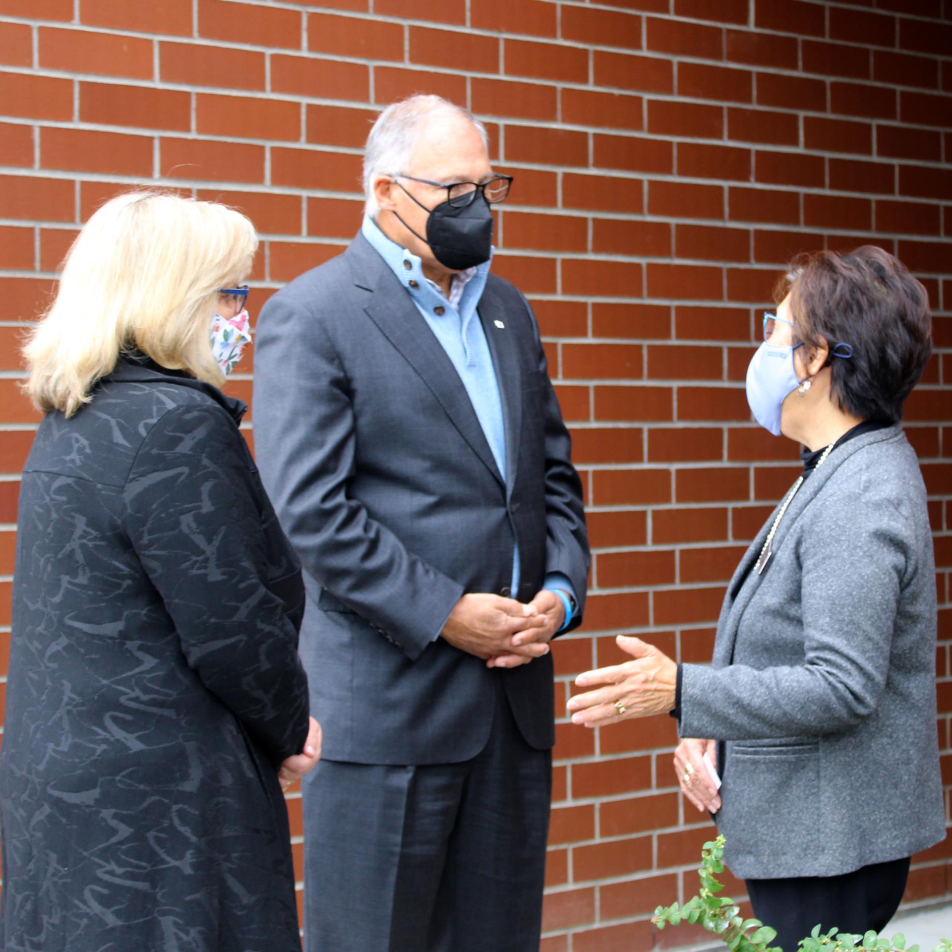
[[307,952],[538,952],[552,755],[526,744],[501,676],[472,760],[307,775]]

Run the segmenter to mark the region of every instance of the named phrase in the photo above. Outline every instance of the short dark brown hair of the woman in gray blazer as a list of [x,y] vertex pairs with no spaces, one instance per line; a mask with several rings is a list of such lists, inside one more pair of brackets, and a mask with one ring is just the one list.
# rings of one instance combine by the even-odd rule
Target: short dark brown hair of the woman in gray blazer
[[800,339],[832,352],[830,390],[837,405],[862,420],[897,423],[932,353],[932,314],[925,288],[883,248],[848,254],[820,251],[794,260],[777,287],[790,294]]

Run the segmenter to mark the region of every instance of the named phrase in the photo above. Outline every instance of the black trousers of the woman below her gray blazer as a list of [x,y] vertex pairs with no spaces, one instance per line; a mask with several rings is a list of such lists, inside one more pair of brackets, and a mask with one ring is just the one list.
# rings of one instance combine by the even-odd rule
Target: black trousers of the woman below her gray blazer
[[843,876],[747,880],[754,915],[777,930],[774,945],[797,952],[818,922],[822,932],[882,932],[902,902],[909,859],[863,866]]

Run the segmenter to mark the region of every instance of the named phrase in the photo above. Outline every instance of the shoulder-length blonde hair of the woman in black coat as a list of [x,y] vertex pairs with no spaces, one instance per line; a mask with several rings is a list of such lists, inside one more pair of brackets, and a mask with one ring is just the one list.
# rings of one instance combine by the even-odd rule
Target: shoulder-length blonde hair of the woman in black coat
[[221,387],[211,318],[219,289],[248,273],[257,247],[248,219],[224,205],[157,190],[111,199],[69,248],[56,298],[24,347],[34,406],[72,416],[130,349]]

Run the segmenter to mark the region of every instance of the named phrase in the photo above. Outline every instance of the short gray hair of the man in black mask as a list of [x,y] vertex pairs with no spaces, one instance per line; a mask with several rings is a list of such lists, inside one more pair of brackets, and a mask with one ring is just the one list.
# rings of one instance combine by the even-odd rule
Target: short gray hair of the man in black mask
[[378,175],[390,175],[407,170],[413,157],[413,147],[421,127],[434,113],[447,112],[462,116],[476,127],[486,150],[489,136],[483,125],[468,109],[451,103],[442,96],[409,96],[392,103],[377,117],[367,136],[364,150],[364,208],[375,215],[380,209],[373,197],[373,182]]

